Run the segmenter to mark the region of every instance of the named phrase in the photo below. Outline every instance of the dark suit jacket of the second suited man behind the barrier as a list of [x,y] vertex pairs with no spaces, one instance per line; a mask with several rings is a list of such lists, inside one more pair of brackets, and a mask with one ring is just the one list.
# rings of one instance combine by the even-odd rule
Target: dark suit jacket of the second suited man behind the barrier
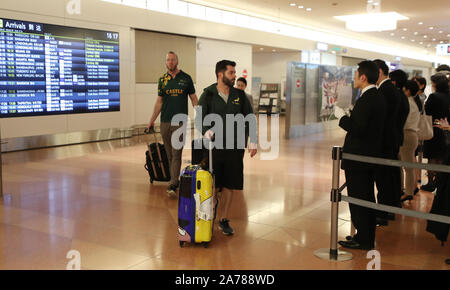
[[[398,90],[390,80],[379,88],[386,102],[386,120],[383,130],[383,157],[397,156],[403,143],[403,127],[409,114],[409,103],[406,96]],[[405,102],[406,101],[406,102]]]

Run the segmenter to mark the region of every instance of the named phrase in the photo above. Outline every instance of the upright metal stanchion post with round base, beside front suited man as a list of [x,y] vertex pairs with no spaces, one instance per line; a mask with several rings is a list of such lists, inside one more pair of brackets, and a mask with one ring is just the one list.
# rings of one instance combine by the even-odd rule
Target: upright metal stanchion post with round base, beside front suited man
[[334,146],[332,152],[333,159],[333,176],[331,188],[331,235],[330,248],[319,249],[314,252],[317,257],[328,261],[347,261],[353,258],[351,253],[339,251],[338,246],[338,218],[339,218],[339,202],[341,201],[341,193],[339,191],[339,177],[342,161],[342,147]]

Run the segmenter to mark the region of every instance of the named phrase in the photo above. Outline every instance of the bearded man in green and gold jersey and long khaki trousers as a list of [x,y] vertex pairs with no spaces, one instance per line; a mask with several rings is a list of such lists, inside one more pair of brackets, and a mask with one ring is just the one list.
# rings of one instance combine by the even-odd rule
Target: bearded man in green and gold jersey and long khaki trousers
[[[152,117],[149,122],[149,129],[155,124],[156,118],[161,113],[161,135],[166,149],[170,167],[170,183],[167,194],[170,198],[176,197],[179,186],[179,176],[181,169],[181,155],[183,148],[172,147],[172,134],[177,131],[182,124],[171,124],[172,118],[177,114],[184,114],[186,122],[188,118],[188,96],[192,106],[197,106],[198,100],[195,94],[192,78],[178,69],[178,56],[170,51],[166,55],[167,73],[159,78],[158,99],[156,100]],[[186,134],[186,133],[184,133]],[[184,135],[183,134],[183,135]],[[183,138],[184,139],[184,138]]]

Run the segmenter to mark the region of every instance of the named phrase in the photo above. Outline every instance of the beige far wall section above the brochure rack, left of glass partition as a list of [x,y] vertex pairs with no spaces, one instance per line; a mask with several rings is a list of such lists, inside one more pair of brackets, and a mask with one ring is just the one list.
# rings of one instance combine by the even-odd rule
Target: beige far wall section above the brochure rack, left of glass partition
[[286,78],[287,64],[301,61],[301,52],[255,52],[253,53],[253,76],[262,83],[281,83]]

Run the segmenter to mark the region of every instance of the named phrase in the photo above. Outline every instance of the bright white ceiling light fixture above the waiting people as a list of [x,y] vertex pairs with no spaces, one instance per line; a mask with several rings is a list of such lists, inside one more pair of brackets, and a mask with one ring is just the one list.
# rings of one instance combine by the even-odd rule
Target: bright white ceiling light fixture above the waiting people
[[395,30],[397,29],[398,20],[409,19],[397,12],[366,13],[334,17],[345,21],[347,29],[358,32]]

